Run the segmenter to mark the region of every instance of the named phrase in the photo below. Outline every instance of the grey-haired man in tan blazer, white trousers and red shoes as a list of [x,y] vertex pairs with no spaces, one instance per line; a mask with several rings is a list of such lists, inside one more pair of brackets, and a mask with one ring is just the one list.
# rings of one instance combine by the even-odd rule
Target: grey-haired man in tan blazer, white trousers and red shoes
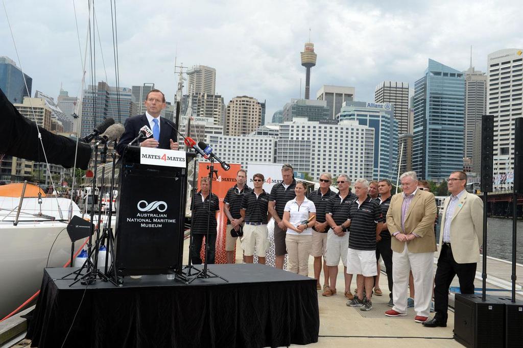
[[386,316],[407,314],[408,273],[414,276],[414,310],[416,322],[428,319],[434,272],[434,219],[436,200],[428,191],[418,190],[416,172],[408,171],[400,177],[403,192],[392,196],[386,221],[393,237],[392,298],[394,306]]

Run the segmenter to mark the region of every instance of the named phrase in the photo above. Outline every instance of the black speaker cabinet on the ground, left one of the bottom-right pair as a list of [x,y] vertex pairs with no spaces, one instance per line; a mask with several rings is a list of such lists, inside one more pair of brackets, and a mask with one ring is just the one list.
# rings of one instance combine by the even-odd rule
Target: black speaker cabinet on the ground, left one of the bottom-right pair
[[495,296],[456,294],[454,339],[465,347],[503,347],[505,303]]

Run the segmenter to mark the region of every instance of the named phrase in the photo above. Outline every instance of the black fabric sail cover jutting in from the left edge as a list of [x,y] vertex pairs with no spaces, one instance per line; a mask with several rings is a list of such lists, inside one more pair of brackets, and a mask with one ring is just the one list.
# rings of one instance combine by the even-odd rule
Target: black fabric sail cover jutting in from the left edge
[[[72,168],[76,141],[40,127],[49,163]],[[0,154],[45,162],[35,122],[22,116],[0,89]],[[78,142],[76,167],[87,169],[91,158],[88,144]]]

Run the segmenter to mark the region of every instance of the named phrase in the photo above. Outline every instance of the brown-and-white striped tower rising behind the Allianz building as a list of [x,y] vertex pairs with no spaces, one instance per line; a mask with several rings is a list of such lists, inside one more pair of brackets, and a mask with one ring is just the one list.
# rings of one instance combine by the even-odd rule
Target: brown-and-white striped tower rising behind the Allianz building
[[374,102],[391,103],[399,134],[408,133],[408,83],[382,81],[374,91]]

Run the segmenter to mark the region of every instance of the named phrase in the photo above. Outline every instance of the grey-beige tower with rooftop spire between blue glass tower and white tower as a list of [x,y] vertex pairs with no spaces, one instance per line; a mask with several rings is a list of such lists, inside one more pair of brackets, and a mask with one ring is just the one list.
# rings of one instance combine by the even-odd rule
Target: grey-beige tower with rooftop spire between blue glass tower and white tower
[[481,116],[486,112],[487,102],[487,76],[481,71],[477,71],[472,66],[472,62],[465,76],[465,138],[464,156],[471,159],[474,156],[474,131],[477,122],[481,122]]

